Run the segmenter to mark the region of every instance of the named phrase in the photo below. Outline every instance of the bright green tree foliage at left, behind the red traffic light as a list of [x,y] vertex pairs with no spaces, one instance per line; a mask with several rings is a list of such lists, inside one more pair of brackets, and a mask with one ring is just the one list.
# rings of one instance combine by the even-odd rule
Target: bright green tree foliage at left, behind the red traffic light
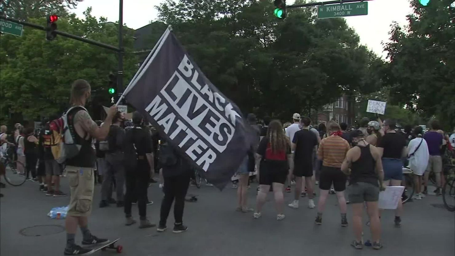
[[[45,24],[45,18],[30,19]],[[80,35],[109,45],[116,45],[118,26],[97,20],[91,9],[85,19],[69,15],[58,21],[59,30]],[[131,50],[134,30],[125,30],[125,48]],[[61,113],[69,104],[71,83],[79,78],[89,81],[92,102],[89,108],[101,112],[101,105],[109,105],[108,74],[116,73],[117,54],[95,45],[57,36],[46,41],[45,32],[25,28],[21,37],[0,36],[1,100],[0,121],[4,123],[16,115],[17,121],[39,120],[40,117]],[[136,71],[135,55],[124,60],[125,81]]]

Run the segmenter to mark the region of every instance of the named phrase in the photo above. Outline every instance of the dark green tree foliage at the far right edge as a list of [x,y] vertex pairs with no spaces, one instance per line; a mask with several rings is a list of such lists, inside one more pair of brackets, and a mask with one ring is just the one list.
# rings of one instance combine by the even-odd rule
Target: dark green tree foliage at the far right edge
[[410,1],[408,26],[393,24],[388,65],[391,100],[436,117],[446,128],[455,124],[455,6],[453,0]]

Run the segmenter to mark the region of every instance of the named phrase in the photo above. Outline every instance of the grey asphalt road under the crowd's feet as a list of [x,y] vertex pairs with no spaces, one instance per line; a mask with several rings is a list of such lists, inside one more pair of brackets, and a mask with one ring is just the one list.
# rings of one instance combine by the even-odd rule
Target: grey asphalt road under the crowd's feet
[[[66,178],[63,191],[68,192]],[[256,185],[253,184],[253,187]],[[382,217],[382,241],[384,248],[374,251],[364,247],[356,251],[349,246],[353,240],[352,227],[340,226],[336,196],[330,196],[323,216],[323,225],[316,226],[316,209],[308,209],[303,198],[298,210],[286,207],[286,219],[276,220],[273,200],[264,206],[261,219],[253,219],[252,213],[235,211],[236,193],[230,185],[224,191],[213,187],[190,187],[189,193],[199,195],[195,203],[185,206],[184,223],[189,230],[173,234],[171,230],[157,233],[155,229],[140,230],[137,224],[124,225],[123,209],[115,206],[98,208],[100,186],[96,187],[89,228],[99,237],[111,240],[120,237],[124,256],[453,256],[455,254],[455,215],[441,205],[442,198],[428,196],[422,201],[405,204],[402,227],[393,225],[394,212],[384,211]],[[429,189],[430,190],[430,189]],[[27,233],[40,236],[24,236],[20,231],[37,225],[61,225],[64,220],[50,219],[46,214],[52,207],[65,206],[69,197],[46,197],[38,191],[37,182],[1,189],[5,197],[0,199],[0,254],[1,256],[60,256],[63,255],[66,235],[58,226],[35,227]],[[162,193],[157,184],[148,190],[149,199],[155,201],[147,211],[151,221],[157,223]],[[249,202],[254,206],[255,189],[248,191]],[[272,199],[272,194],[268,199]],[[286,202],[291,194],[285,195]],[[317,202],[317,198],[316,198]],[[348,221],[351,209],[348,206]],[[137,208],[133,216],[138,219]],[[366,221],[366,218],[365,218]],[[172,228],[171,213],[167,226]],[[60,231],[57,234],[48,234]],[[365,239],[369,229],[365,226]],[[78,231],[76,242],[80,243]],[[112,255],[114,251],[99,251],[94,255]]]

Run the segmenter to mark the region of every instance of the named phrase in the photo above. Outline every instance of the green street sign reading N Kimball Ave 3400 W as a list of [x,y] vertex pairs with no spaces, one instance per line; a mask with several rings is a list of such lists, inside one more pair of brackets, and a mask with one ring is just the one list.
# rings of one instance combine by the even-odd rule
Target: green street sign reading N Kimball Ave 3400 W
[[368,15],[368,2],[318,6],[318,19],[358,15]]

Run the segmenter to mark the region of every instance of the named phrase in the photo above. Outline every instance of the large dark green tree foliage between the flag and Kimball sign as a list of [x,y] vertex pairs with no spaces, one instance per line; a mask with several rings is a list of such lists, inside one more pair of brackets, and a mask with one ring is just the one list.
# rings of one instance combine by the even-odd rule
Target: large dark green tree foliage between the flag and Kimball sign
[[382,85],[383,61],[344,19],[318,20],[314,9],[297,8],[278,20],[273,8],[259,0],[158,6],[205,75],[244,112],[288,117]]

